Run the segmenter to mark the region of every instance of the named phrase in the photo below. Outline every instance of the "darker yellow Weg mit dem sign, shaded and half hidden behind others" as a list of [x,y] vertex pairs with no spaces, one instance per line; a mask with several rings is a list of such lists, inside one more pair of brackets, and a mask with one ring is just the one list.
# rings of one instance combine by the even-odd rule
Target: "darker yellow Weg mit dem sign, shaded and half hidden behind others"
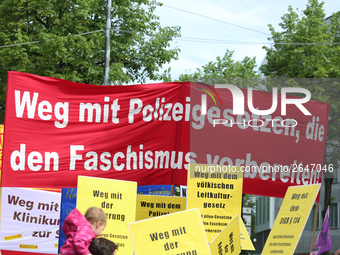
[[185,197],[137,195],[136,220],[185,210]]

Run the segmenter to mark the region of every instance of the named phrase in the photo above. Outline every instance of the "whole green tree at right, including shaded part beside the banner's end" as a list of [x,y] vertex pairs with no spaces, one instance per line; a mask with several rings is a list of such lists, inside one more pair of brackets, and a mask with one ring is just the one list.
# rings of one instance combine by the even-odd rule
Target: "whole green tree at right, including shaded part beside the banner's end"
[[[279,24],[282,32],[269,25],[273,45],[264,47],[268,62],[260,70],[267,77],[287,78],[281,86],[304,87],[311,92],[312,99],[330,103],[327,131],[330,152],[325,156],[325,164],[333,164],[336,169],[340,158],[340,80],[329,78],[340,78],[340,12],[334,13],[331,25],[327,25],[323,4],[309,0],[301,17],[290,6]],[[277,83],[276,86],[279,87]],[[323,174],[326,177],[324,215],[331,199],[333,178],[329,172]]]

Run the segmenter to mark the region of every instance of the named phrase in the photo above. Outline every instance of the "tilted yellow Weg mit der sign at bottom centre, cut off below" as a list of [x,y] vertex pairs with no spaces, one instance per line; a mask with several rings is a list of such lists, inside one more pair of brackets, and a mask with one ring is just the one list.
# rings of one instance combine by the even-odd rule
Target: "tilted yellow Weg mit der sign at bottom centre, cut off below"
[[211,255],[198,208],[128,224],[135,255]]

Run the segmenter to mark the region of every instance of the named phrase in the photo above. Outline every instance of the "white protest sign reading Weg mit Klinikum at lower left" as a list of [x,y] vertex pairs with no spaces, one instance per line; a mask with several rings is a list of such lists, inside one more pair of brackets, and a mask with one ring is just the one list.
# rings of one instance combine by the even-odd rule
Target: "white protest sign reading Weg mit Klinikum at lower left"
[[57,254],[60,193],[2,188],[1,250]]

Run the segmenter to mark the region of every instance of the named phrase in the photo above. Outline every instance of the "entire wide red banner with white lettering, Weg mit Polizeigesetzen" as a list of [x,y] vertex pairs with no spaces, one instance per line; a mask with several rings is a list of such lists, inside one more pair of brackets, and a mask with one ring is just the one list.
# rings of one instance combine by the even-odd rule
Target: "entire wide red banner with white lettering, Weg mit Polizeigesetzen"
[[[245,171],[249,194],[283,197],[290,185],[320,182],[320,171],[302,176],[294,170],[324,167],[328,104],[304,103],[311,115],[287,105],[282,116],[279,99],[269,117],[293,118],[297,125],[270,128],[267,115],[255,116],[248,107],[233,115],[233,97],[223,88],[215,90],[215,104],[208,98],[203,115],[202,88],[179,82],[96,86],[9,72],[1,185],[76,187],[78,175],[186,185],[190,160],[245,170],[290,167],[289,173],[282,167],[270,174]],[[272,93],[253,91],[253,99],[255,108],[269,109]],[[254,127],[250,119],[266,125]],[[242,120],[247,127],[235,124]]]

